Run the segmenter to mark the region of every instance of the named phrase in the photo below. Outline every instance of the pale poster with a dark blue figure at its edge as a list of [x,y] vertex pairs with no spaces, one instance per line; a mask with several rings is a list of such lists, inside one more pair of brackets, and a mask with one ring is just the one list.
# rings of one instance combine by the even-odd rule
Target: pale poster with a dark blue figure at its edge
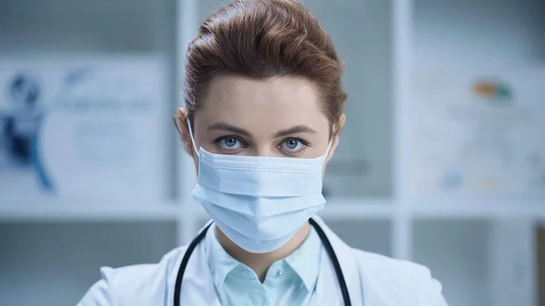
[[156,57],[0,63],[0,202],[164,195]]

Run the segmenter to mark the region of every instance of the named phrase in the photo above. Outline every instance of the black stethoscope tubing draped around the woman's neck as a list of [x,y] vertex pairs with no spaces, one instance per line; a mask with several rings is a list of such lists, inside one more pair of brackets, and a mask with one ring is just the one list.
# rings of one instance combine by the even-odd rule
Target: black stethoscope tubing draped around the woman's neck
[[[337,259],[335,251],[333,251],[332,243],[329,241],[329,239],[323,232],[322,227],[320,227],[317,222],[312,219],[310,219],[309,222],[318,233],[318,236],[320,236],[323,247],[329,255],[330,260],[332,261],[333,269],[335,270],[335,274],[337,275],[337,281],[339,281],[339,286],[341,287],[342,300],[344,301],[344,305],[352,306],[352,302],[350,301],[350,295],[348,294],[348,287],[346,286],[346,281],[344,281],[344,275],[342,274],[341,264]],[[174,285],[174,306],[180,306],[180,292],[182,291],[183,273],[185,272],[185,268],[187,267],[187,262],[189,262],[189,258],[191,257],[191,254],[195,250],[197,244],[203,241],[204,236],[206,236],[206,232],[211,225],[212,222],[210,222],[210,224],[208,224],[203,229],[203,231],[199,232],[199,234],[195,238],[193,238],[193,241],[189,244],[189,246],[187,247],[187,251],[183,255],[182,263],[180,264],[180,269],[178,270],[178,275],[176,276],[176,282]]]

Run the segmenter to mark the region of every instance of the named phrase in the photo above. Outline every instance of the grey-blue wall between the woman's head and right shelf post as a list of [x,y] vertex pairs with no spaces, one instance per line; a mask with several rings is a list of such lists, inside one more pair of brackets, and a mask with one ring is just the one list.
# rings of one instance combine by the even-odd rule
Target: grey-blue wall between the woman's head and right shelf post
[[389,197],[393,185],[391,2],[306,1],[345,61],[347,122],[328,166],[332,196]]

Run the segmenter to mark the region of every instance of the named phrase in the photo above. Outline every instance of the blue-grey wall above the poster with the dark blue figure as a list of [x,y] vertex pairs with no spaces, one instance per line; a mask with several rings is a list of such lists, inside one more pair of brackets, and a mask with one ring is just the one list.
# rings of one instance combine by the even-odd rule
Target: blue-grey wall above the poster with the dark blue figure
[[152,51],[154,11],[162,3],[3,0],[0,50],[2,53]]

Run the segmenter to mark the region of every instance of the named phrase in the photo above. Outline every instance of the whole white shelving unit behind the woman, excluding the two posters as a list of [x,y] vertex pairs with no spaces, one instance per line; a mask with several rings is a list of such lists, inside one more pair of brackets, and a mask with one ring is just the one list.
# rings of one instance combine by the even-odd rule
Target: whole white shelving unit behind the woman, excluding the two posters
[[[186,46],[203,18],[227,2],[7,0],[0,5],[0,56],[162,54],[173,67],[167,72],[173,114],[183,101],[177,80],[183,78]],[[348,123],[326,173],[329,200],[322,218],[354,247],[429,266],[450,305],[535,305],[530,229],[545,222],[545,199],[409,197],[405,127],[411,75],[423,65],[545,64],[545,5],[303,3],[345,59],[349,91]],[[157,262],[193,238],[207,215],[189,197],[193,161],[170,124],[168,114],[165,167],[172,183],[163,199],[8,201],[0,195],[0,304],[72,305],[98,279],[99,266]],[[347,163],[357,163],[357,171],[347,172]],[[515,268],[523,272],[510,273]]]

